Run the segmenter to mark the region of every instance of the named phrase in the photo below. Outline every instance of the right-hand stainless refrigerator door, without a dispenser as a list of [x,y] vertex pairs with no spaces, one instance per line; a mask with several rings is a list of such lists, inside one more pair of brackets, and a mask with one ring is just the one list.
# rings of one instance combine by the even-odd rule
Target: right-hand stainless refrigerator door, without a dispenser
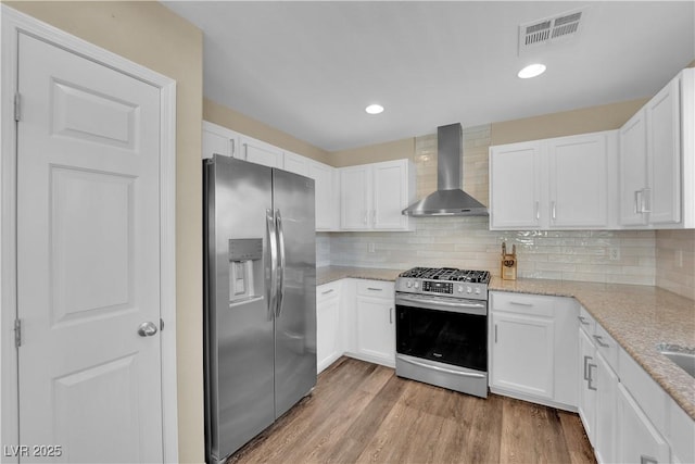
[[314,180],[273,171],[280,261],[276,310],[275,412],[279,417],[316,385],[316,228]]

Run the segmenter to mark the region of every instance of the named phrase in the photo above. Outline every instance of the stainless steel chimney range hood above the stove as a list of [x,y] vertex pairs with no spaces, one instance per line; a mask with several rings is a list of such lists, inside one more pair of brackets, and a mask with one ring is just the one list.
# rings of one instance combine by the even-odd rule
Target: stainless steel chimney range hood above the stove
[[460,124],[437,128],[437,191],[403,210],[408,216],[486,216],[488,208],[463,191]]

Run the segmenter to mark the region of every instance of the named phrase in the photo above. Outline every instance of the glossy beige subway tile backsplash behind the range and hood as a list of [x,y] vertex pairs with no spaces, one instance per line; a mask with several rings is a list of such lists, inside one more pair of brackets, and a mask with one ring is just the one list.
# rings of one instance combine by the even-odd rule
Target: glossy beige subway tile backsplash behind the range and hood
[[[464,129],[464,189],[483,204],[489,203],[489,125]],[[437,189],[435,134],[416,138],[413,161],[419,199]],[[317,234],[317,262],[396,269],[480,268],[498,276],[501,244],[506,241],[507,249],[517,246],[519,277],[658,285],[695,298],[693,230],[493,231],[488,217],[410,220],[416,225],[410,233]],[[680,267],[678,250],[683,254]]]

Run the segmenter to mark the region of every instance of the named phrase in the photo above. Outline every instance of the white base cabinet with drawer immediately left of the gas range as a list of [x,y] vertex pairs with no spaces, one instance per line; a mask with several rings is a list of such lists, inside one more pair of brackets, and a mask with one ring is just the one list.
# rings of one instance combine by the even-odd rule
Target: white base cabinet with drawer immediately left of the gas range
[[357,280],[355,354],[365,361],[395,366],[394,284]]

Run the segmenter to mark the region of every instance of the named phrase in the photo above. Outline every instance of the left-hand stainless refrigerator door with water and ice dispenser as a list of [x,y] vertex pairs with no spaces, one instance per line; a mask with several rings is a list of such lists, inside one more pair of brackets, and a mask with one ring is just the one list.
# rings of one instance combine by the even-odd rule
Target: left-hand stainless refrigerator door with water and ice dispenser
[[[271,179],[270,168],[226,156],[215,155],[205,166],[205,388],[211,462],[224,460],[275,419],[266,222],[266,211],[273,208]],[[254,249],[251,246],[258,240],[263,242],[261,256],[247,250]]]

